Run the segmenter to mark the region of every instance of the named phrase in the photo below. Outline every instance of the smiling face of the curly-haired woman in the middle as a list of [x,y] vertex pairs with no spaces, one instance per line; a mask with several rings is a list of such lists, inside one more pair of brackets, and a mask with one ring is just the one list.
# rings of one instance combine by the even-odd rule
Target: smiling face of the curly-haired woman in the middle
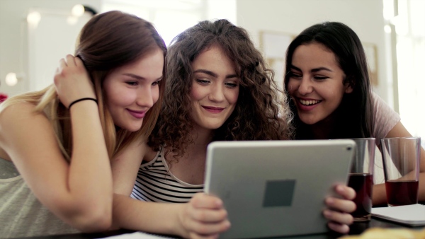
[[218,129],[232,115],[239,95],[234,68],[222,49],[214,45],[193,60],[191,117],[199,127]]

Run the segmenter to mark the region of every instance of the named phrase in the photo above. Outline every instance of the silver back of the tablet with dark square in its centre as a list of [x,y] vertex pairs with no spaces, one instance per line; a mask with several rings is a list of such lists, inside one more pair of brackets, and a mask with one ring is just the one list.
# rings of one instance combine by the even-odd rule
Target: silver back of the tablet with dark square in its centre
[[324,233],[324,199],[346,184],[350,139],[215,141],[205,192],[220,197],[232,227],[220,238]]

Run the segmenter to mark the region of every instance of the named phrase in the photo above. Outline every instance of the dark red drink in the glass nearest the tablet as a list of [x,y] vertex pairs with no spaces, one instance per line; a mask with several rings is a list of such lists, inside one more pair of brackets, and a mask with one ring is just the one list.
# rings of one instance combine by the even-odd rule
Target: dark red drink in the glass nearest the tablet
[[372,211],[373,177],[370,173],[350,173],[348,187],[356,191],[356,211],[353,211],[354,221],[369,221]]

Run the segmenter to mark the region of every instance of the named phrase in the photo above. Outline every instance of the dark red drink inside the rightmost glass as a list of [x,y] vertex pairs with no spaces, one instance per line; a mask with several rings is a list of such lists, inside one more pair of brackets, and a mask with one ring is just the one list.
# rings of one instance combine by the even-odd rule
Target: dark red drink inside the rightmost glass
[[418,181],[388,180],[385,182],[387,201],[390,206],[418,203]]

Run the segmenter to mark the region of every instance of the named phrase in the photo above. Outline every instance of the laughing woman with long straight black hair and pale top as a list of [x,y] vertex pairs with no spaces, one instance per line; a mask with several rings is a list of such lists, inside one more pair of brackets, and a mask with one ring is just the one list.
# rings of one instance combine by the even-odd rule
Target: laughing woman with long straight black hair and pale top
[[[290,43],[285,91],[295,115],[295,139],[380,139],[411,136],[399,115],[373,93],[361,41],[343,23],[312,25]],[[419,201],[425,200],[421,148]],[[385,185],[374,185],[373,204],[386,204]]]

